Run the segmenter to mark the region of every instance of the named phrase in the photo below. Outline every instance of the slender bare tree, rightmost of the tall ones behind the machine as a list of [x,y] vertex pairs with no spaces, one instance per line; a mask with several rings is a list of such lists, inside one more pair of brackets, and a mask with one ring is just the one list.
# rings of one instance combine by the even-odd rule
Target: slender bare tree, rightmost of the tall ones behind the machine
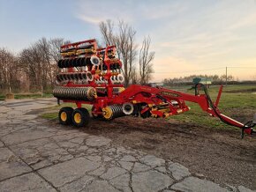
[[145,37],[139,51],[139,78],[140,84],[147,84],[152,78],[154,52],[149,52],[151,39]]

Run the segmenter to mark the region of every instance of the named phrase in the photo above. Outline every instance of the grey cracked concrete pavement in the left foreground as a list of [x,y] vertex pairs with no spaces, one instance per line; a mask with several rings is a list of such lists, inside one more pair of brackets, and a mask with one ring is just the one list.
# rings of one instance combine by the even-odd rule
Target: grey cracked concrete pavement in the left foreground
[[49,127],[34,110],[54,105],[54,99],[0,103],[0,191],[252,191],[72,126]]

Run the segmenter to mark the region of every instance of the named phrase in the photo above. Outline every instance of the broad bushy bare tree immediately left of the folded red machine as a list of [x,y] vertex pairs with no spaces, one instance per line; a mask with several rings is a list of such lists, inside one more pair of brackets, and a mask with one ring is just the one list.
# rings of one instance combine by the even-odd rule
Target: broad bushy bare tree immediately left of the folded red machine
[[30,88],[35,91],[50,90],[55,84],[58,72],[57,62],[61,58],[60,46],[64,39],[46,38],[36,41],[25,48],[19,55],[19,63],[30,82]]

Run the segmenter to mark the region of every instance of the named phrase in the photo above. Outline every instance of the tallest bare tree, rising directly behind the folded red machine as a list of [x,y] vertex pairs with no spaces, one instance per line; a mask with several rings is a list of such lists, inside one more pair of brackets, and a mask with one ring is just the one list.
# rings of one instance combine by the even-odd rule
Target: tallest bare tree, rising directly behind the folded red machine
[[132,76],[132,69],[135,66],[137,45],[135,43],[136,31],[124,21],[119,21],[117,33],[113,31],[114,24],[107,20],[100,23],[102,39],[107,45],[117,46],[117,56],[124,65],[124,85],[129,85]]

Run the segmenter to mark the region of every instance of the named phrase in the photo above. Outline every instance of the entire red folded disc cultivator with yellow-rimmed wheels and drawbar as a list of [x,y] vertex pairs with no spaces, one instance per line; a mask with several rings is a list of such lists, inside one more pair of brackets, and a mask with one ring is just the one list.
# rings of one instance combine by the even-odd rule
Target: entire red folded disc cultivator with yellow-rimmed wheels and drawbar
[[[213,102],[205,85],[195,87],[195,95],[147,85],[130,85],[124,88],[122,63],[116,57],[116,47],[98,48],[95,40],[79,41],[61,47],[62,59],[58,62],[61,72],[56,76],[53,95],[64,102],[77,105],[63,107],[59,111],[61,124],[86,126],[90,114],[82,104],[92,105],[92,116],[111,120],[124,115],[142,118],[168,117],[190,109],[185,101],[198,103],[203,111],[220,118],[222,122],[252,134],[256,120],[245,124],[222,114],[218,103],[222,93],[220,88],[217,100]],[[204,91],[200,94],[199,90]]]

